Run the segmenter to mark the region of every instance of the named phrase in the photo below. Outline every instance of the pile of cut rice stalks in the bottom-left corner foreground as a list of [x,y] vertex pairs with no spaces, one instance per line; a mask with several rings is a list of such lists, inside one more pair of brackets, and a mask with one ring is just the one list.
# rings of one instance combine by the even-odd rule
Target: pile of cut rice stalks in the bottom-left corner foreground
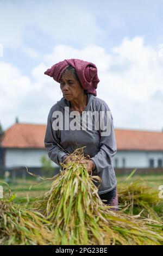
[[0,199],[0,245],[51,244],[50,223],[39,212],[20,208],[12,199]]

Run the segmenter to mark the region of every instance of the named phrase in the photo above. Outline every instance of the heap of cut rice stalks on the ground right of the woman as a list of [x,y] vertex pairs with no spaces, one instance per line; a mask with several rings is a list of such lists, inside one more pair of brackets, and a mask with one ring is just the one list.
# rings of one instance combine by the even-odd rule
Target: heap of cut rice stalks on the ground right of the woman
[[150,216],[155,220],[163,220],[163,202],[159,199],[158,191],[149,187],[143,179],[121,183],[117,186],[118,200],[121,205],[127,206],[129,214],[138,214],[142,209],[142,215]]

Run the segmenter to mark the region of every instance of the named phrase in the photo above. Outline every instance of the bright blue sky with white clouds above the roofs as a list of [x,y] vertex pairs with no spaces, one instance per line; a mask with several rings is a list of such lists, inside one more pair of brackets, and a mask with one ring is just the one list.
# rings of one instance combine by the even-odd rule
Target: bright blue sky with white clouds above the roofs
[[0,0],[0,122],[46,124],[62,97],[43,73],[95,63],[115,129],[163,129],[163,0]]

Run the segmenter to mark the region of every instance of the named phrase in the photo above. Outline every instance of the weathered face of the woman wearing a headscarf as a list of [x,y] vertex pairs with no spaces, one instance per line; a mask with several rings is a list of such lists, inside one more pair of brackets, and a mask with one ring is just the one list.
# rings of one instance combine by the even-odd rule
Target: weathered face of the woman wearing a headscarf
[[64,74],[62,74],[60,79],[60,88],[63,96],[68,101],[78,99],[81,96],[81,93],[84,93],[80,82],[76,80],[70,70],[66,70]]

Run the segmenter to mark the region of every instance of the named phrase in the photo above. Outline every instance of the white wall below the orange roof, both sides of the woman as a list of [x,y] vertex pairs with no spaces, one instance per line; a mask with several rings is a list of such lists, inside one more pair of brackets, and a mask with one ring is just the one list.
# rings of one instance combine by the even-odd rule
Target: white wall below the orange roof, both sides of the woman
[[[48,155],[45,149],[7,149],[5,153],[6,167],[41,167],[41,157]],[[126,168],[147,168],[149,167],[149,159],[154,159],[154,167],[158,167],[158,159],[162,159],[163,152],[148,151],[117,151],[112,158],[115,167],[115,159],[118,159],[118,168],[122,168],[122,159],[126,159]],[[52,166],[57,166],[52,162]]]

